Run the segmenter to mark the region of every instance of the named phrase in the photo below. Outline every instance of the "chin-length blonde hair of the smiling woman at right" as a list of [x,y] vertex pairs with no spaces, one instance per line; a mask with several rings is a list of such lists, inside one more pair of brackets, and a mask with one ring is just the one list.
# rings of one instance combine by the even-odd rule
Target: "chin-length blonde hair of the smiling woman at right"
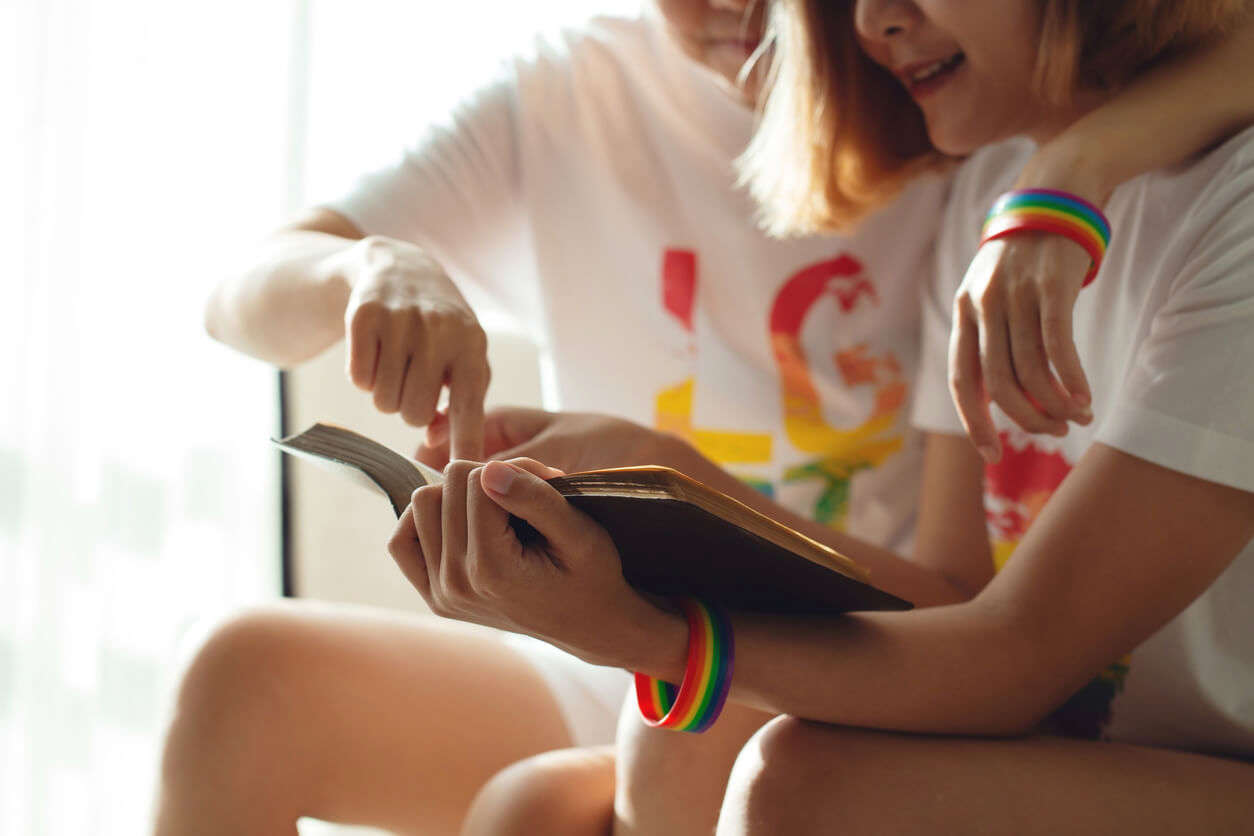
[[[1239,21],[1251,0],[1037,0],[1036,88],[1065,104]],[[775,0],[757,132],[739,160],[764,229],[848,228],[912,179],[953,162],[928,139],[902,84],[854,31],[853,0]]]

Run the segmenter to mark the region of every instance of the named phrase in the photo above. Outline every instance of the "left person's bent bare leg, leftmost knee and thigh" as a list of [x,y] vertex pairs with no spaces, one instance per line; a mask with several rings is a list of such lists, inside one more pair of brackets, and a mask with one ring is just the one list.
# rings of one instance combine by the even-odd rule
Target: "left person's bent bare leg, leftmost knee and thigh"
[[273,607],[218,628],[187,671],[155,832],[273,836],[314,816],[455,833],[493,773],[569,745],[544,682],[490,633]]

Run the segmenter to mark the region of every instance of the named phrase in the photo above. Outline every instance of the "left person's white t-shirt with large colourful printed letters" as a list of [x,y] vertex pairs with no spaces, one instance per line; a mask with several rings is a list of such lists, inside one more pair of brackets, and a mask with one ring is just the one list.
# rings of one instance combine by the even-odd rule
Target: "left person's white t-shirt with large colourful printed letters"
[[806,516],[904,548],[918,281],[946,183],[848,237],[771,241],[734,187],[752,114],[645,19],[512,59],[331,208],[529,323],[553,407],[675,431]]

